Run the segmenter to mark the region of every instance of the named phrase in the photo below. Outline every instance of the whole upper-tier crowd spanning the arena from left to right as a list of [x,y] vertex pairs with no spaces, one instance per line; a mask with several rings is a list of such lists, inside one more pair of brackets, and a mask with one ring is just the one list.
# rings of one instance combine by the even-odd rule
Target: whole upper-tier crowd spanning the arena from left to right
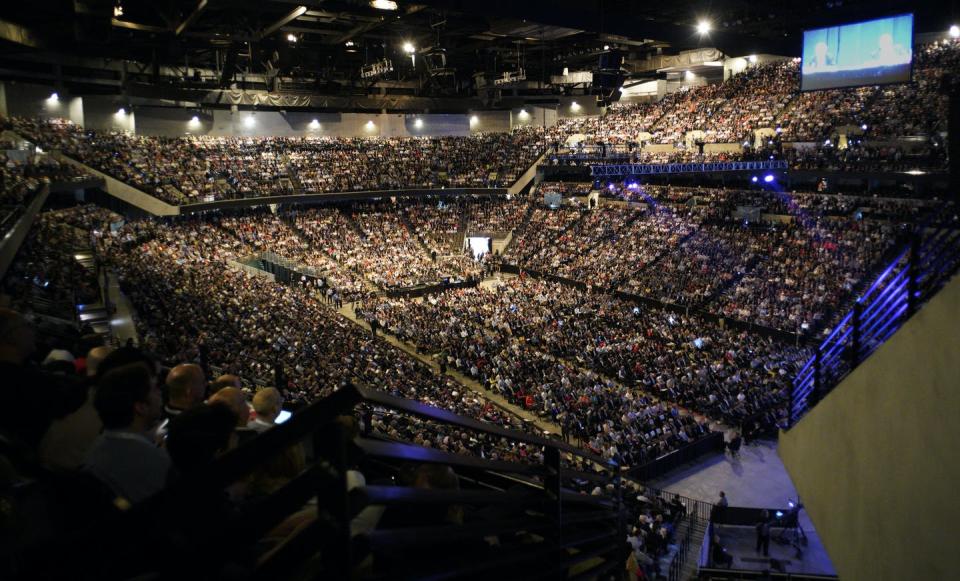
[[[548,130],[518,128],[469,137],[337,138],[134,136],[83,130],[69,121],[3,120],[46,149],[57,149],[164,201],[358,190],[506,187],[536,159],[591,163],[618,148],[632,162],[756,159],[755,130],[776,129],[783,142],[824,143],[850,128],[852,152],[836,143],[794,152],[798,168],[908,171],[942,169],[946,131],[944,79],[960,64],[960,42],[919,47],[910,83],[798,92],[797,60],[749,65],[716,84],[684,88],[656,103],[615,105],[601,117],[561,119]],[[845,130],[846,131],[846,130]],[[697,133],[693,133],[697,132]],[[922,136],[919,150],[860,146],[862,140]],[[767,139],[767,138],[764,138]],[[576,143],[568,146],[567,142]],[[745,144],[703,151],[704,144]],[[773,143],[773,141],[770,141]],[[547,144],[552,144],[550,147]],[[674,146],[650,151],[645,144]],[[552,147],[552,149],[550,149]],[[937,150],[936,148],[940,148]],[[777,154],[782,153],[780,148]]]

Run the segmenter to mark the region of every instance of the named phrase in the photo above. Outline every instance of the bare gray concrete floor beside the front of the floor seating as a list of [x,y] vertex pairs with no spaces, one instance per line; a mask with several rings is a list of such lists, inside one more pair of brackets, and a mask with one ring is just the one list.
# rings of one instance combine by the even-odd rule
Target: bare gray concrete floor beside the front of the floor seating
[[[789,500],[797,499],[797,490],[777,455],[777,446],[773,441],[744,446],[739,459],[732,459],[725,454],[708,456],[649,484],[708,502],[716,502],[722,490],[730,506],[786,507]],[[794,547],[777,542],[770,543],[770,556],[789,561],[786,563],[788,572],[835,575],[826,548],[820,542],[806,511],[800,513],[800,526],[807,536],[807,545],[802,547],[803,556],[797,558]],[[779,533],[780,529],[774,529],[773,536]],[[769,561],[755,550],[756,536],[752,527],[721,527],[719,534],[721,543],[734,556],[735,569],[769,568]]]

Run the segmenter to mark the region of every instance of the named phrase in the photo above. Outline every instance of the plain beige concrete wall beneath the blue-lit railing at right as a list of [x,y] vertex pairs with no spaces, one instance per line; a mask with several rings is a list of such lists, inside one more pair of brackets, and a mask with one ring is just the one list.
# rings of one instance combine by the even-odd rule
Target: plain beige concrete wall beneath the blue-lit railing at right
[[956,579],[960,277],[793,429],[779,453],[841,579]]

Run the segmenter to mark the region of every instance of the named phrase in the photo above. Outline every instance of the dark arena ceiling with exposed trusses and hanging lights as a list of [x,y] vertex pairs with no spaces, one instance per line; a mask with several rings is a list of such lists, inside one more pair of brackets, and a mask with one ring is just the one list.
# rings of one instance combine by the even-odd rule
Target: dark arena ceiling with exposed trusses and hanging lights
[[[73,63],[132,61],[124,75],[156,82],[174,69],[185,83],[220,87],[245,87],[247,76],[258,76],[267,88],[279,78],[287,89],[314,93],[392,82],[416,94],[468,95],[479,74],[492,81],[522,68],[528,81],[548,81],[564,67],[589,70],[604,47],[631,60],[697,46],[790,55],[799,53],[805,28],[913,11],[922,32],[960,16],[957,0],[396,3],[382,10],[370,0],[7,0],[0,69],[11,59],[66,63],[66,55]],[[708,35],[695,31],[701,19],[712,22]],[[414,59],[405,43],[416,48]],[[393,70],[361,74],[381,59]]]

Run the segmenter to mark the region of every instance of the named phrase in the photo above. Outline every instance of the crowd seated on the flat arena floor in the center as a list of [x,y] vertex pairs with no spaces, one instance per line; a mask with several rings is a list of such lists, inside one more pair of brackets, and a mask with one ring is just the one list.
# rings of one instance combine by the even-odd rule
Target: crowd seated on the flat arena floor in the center
[[706,433],[677,405],[731,425],[778,420],[802,349],[706,320],[529,277],[425,300],[371,300],[361,317],[626,464]]

